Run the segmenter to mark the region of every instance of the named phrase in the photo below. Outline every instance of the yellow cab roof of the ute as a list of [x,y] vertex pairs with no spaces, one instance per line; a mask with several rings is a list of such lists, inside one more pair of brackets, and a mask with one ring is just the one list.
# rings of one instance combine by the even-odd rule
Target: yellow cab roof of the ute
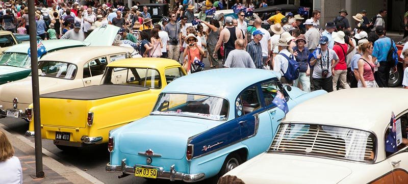
[[[167,66],[181,66],[179,62],[166,58],[129,58],[109,63],[107,67],[142,67],[165,68]],[[159,71],[160,72],[160,71]]]

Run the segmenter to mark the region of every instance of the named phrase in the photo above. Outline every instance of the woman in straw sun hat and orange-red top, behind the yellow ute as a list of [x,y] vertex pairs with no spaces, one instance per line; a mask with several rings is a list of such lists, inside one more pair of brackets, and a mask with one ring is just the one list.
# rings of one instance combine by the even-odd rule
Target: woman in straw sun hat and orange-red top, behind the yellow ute
[[183,58],[188,56],[187,62],[184,62],[183,68],[187,71],[187,73],[193,73],[191,71],[191,65],[194,64],[195,59],[200,59],[202,55],[204,55],[204,50],[201,48],[200,45],[197,45],[197,37],[194,34],[187,35],[185,42],[187,44],[186,49],[184,50]]

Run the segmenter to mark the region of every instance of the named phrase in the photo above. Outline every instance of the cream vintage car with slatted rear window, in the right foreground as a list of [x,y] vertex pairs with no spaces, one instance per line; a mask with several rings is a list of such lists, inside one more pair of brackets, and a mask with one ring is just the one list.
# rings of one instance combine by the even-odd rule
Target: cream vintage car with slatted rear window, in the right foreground
[[305,101],[282,120],[266,152],[225,175],[250,184],[406,184],[407,95],[404,89],[354,88]]

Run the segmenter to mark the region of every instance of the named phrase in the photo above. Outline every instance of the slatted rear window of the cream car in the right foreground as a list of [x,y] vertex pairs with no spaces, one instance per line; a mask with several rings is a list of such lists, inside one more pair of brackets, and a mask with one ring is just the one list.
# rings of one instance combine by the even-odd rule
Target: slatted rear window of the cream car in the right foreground
[[374,134],[359,129],[285,123],[279,125],[268,152],[374,162],[376,142]]

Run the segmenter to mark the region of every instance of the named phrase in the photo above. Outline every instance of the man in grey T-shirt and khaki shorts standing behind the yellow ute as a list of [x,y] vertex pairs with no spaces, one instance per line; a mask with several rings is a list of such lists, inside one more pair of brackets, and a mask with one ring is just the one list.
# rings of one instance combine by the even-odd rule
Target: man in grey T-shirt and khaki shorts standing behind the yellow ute
[[180,24],[176,22],[176,16],[174,13],[170,14],[170,22],[164,27],[164,31],[168,33],[168,58],[179,61],[180,49],[181,49],[181,28]]

